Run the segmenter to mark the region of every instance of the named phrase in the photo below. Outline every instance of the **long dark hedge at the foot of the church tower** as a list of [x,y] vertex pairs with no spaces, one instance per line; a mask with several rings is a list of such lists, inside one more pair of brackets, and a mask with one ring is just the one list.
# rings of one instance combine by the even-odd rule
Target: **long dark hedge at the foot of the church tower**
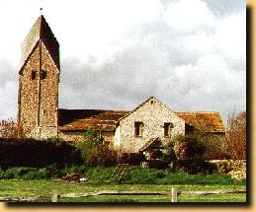
[[71,144],[54,140],[0,139],[0,167],[37,167],[57,163],[80,165],[79,150]]

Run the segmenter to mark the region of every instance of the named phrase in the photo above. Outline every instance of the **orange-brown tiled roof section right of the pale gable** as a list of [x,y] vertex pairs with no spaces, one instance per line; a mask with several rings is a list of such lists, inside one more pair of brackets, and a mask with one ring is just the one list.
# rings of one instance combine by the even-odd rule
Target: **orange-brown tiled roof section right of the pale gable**
[[193,111],[193,112],[175,112],[186,123],[194,126],[203,132],[225,132],[223,121],[218,112]]

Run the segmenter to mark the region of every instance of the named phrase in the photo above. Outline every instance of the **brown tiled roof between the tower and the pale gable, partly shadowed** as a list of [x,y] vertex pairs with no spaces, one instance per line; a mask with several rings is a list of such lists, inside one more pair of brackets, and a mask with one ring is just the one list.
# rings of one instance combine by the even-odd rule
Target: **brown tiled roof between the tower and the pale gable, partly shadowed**
[[60,131],[85,131],[89,128],[114,131],[125,110],[58,109]]

